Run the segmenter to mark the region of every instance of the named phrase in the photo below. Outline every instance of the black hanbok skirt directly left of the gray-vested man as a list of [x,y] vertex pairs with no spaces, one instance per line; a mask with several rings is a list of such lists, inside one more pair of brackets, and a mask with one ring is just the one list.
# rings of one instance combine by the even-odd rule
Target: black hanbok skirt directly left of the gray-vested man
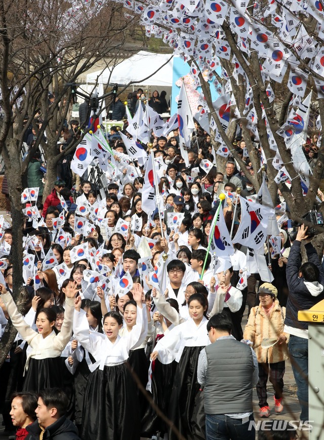
[[[204,391],[197,381],[197,365],[203,347],[185,347],[174,377],[169,419],[187,440],[205,440]],[[169,440],[178,436],[169,428]]]

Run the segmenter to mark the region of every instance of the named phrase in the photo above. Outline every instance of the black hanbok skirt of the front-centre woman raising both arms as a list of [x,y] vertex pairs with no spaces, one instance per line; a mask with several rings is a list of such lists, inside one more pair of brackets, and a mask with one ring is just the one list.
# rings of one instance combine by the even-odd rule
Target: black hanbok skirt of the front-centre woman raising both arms
[[137,389],[127,363],[90,374],[83,408],[84,440],[140,440]]

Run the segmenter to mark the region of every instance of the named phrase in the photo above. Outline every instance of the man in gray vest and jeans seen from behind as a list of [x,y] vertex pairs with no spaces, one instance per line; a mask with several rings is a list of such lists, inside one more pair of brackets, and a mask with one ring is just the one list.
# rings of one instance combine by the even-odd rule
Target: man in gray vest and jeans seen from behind
[[197,379],[204,386],[206,439],[255,439],[252,390],[258,383],[257,357],[231,336],[231,322],[216,313],[207,324],[212,342],[200,351]]

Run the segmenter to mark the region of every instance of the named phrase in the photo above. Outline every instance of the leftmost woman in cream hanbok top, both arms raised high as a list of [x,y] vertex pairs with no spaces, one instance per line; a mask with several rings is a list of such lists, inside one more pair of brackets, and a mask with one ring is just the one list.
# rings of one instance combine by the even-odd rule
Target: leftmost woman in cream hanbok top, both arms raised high
[[2,284],[0,284],[0,294],[14,327],[32,348],[27,356],[23,390],[39,391],[44,388],[62,387],[60,355],[72,334],[73,298],[77,294],[76,283],[71,281],[66,288],[64,323],[58,335],[53,330],[56,313],[51,308],[42,308],[38,311],[36,316],[38,332],[36,332],[26,324],[13,297]]

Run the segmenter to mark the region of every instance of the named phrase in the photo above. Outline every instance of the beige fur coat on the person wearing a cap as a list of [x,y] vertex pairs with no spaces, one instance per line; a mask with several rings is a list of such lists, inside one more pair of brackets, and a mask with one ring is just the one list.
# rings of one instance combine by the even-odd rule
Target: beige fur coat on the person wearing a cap
[[[250,339],[253,342],[253,349],[256,352],[259,364],[286,361],[288,356],[287,343],[289,334],[284,333],[284,321],[286,316],[286,307],[282,311],[277,299],[274,300],[274,307],[269,317],[266,316],[261,304],[251,309],[248,324],[244,330],[244,339]],[[262,348],[261,341],[265,338],[277,339],[282,333],[287,338],[287,342],[273,347]]]

